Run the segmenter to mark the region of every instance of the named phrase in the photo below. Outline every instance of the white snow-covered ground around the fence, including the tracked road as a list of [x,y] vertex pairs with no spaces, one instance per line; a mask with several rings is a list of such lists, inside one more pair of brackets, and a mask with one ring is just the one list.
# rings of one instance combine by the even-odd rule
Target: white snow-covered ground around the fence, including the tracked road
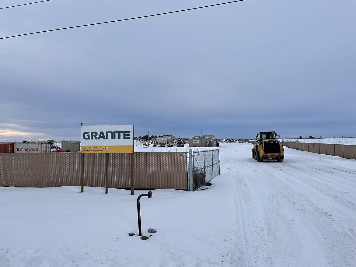
[[141,198],[148,240],[136,208],[148,190],[0,188],[0,266],[356,266],[354,159],[286,148],[283,162],[257,162],[249,143],[219,149],[210,187]]

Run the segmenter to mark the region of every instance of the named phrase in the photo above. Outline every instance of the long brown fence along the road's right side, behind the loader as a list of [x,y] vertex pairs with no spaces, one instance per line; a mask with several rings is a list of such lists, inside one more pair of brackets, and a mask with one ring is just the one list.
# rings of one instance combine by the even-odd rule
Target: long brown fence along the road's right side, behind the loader
[[282,142],[283,146],[295,148],[301,151],[308,151],[318,154],[325,154],[331,156],[339,156],[342,158],[356,159],[355,145],[334,145],[323,143],[295,143]]

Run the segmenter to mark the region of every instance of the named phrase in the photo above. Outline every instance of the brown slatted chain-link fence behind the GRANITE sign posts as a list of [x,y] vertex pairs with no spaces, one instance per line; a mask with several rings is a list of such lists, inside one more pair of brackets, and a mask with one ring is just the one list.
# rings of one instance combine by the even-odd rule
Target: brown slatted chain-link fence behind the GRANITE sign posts
[[[80,153],[0,153],[0,187],[80,186]],[[188,189],[186,152],[134,153],[135,189]],[[84,186],[105,187],[105,154],[84,154]],[[131,187],[131,154],[109,154],[109,187]]]

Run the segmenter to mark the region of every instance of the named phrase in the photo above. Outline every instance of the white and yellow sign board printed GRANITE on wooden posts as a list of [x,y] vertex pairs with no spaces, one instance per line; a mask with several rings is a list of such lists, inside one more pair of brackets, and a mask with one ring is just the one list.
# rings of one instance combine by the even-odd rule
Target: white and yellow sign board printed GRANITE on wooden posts
[[134,125],[82,126],[82,153],[133,153]]

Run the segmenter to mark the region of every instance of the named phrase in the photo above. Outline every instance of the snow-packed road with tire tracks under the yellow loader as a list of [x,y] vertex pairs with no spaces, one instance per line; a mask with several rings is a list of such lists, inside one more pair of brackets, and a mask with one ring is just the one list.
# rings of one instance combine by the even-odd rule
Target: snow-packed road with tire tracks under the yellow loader
[[257,162],[251,149],[221,148],[245,266],[356,266],[356,161],[286,148]]

